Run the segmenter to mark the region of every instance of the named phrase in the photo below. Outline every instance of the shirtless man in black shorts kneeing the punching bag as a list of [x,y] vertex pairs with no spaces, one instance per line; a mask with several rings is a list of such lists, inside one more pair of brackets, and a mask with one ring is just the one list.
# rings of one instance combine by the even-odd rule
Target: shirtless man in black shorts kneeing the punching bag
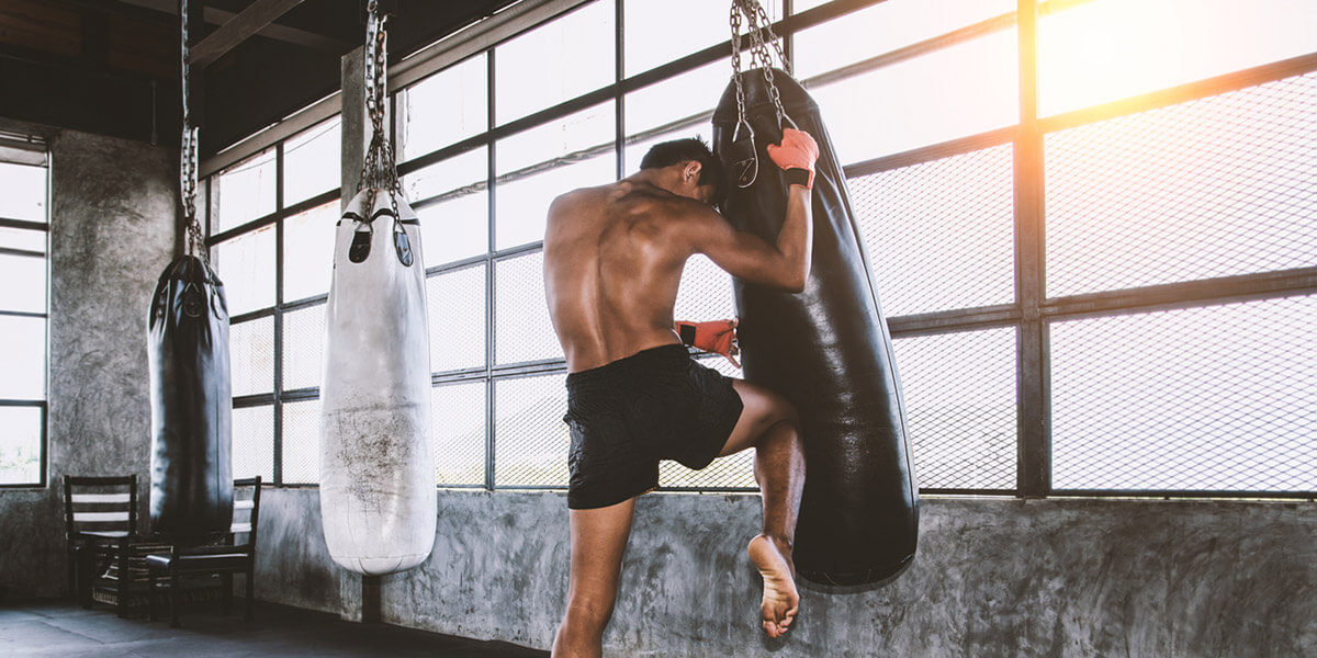
[[805,288],[818,146],[788,130],[769,150],[792,182],[776,243],[738,232],[712,209],[727,179],[699,139],[656,145],[637,174],[568,192],[549,208],[544,282],[568,362],[572,429],[572,574],[554,658],[602,654],[636,496],[658,486],[658,459],[703,468],[755,449],[764,525],[747,551],[764,579],[764,630],[781,637],[795,617],[792,545],[805,484],[795,409],[695,363],[673,330],[681,272],[694,254],[745,282]]

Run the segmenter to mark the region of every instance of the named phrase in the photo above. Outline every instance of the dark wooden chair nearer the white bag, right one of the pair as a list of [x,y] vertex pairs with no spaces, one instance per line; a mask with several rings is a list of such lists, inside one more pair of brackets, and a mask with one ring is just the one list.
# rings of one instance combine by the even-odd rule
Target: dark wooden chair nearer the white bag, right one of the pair
[[[245,492],[250,494],[245,494]],[[248,497],[249,496],[249,497]],[[255,590],[255,532],[261,513],[261,478],[233,480],[233,525],[224,540],[208,546],[173,546],[169,553],[146,555],[146,570],[150,580],[150,619],[155,620],[157,599],[161,590],[169,590],[170,625],[178,626],[178,607],[187,597],[188,590],[196,590],[200,578],[204,587],[207,579],[219,578],[223,609],[227,613],[233,601],[233,574],[246,576],[246,620],[253,619],[252,601]],[[238,541],[238,537],[242,537]],[[162,582],[167,578],[167,582]],[[194,583],[188,583],[188,578]]]

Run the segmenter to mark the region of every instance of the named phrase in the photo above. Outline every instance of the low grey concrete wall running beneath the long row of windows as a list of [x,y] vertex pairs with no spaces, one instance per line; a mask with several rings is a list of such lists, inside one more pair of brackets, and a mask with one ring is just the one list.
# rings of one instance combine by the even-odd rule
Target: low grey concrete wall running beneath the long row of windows
[[[262,515],[300,524],[317,503]],[[566,504],[552,492],[439,492],[435,551],[385,576],[383,621],[548,649],[568,583]],[[273,511],[271,511],[273,512]],[[294,515],[294,520],[277,520]],[[805,584],[785,641],[759,630],[744,554],[759,501],[640,500],[606,654],[619,657],[1299,657],[1317,655],[1317,505],[1250,501],[930,499],[919,555],[890,586]],[[262,532],[265,532],[262,522]],[[266,533],[262,572],[323,574]],[[266,544],[266,538],[271,542]],[[329,567],[336,569],[336,567]],[[258,590],[331,609],[328,586]]]

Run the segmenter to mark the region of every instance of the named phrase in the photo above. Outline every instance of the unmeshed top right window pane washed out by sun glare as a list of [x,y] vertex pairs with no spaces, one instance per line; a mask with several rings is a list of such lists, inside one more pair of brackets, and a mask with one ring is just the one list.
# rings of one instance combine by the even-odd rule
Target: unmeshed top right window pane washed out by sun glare
[[1301,0],[1080,3],[1039,21],[1039,109],[1056,114],[1304,55],[1317,50],[1313,25],[1317,3]]

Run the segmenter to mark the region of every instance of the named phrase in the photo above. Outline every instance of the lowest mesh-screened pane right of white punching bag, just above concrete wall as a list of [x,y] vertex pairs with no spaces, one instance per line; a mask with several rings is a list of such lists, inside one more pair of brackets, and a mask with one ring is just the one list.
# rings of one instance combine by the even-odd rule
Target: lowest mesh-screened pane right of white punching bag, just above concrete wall
[[436,483],[485,483],[485,391],[483,379],[431,390],[429,440]]

